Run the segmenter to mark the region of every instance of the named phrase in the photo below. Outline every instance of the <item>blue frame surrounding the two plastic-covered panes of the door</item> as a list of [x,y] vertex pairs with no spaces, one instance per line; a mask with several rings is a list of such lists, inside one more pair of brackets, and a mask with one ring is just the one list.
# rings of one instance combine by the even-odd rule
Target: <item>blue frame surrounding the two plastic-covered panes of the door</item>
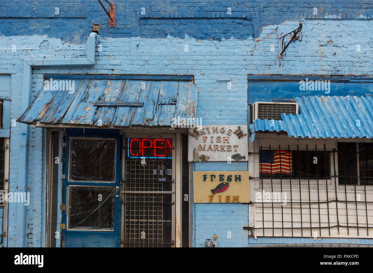
[[[80,138],[80,139],[115,139],[116,140],[116,164],[115,164],[115,182],[81,182],[81,181],[71,181],[69,182],[69,144],[70,138]],[[65,205],[65,210],[63,210],[62,214],[62,223],[65,224],[65,229],[62,229],[62,246],[66,247],[66,233],[75,233],[75,234],[90,234],[90,235],[113,235],[114,236],[114,247],[119,247],[119,182],[120,178],[122,177],[122,169],[121,169],[121,157],[120,157],[120,150],[121,150],[121,143],[122,138],[120,135],[86,135],[86,134],[66,134],[65,135],[65,162],[64,162],[64,185],[63,185],[63,205]],[[68,211],[67,206],[67,189],[68,186],[115,186],[116,195],[114,201],[114,231],[98,231],[98,230],[71,230],[69,231],[67,225],[67,215],[66,211]],[[118,196],[117,196],[118,195]]]

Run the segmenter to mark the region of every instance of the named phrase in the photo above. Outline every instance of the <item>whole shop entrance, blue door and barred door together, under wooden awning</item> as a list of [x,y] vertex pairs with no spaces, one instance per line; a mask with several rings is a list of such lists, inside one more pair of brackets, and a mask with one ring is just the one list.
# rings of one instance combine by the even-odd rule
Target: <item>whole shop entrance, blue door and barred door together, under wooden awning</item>
[[181,139],[66,134],[62,246],[188,247],[189,168]]

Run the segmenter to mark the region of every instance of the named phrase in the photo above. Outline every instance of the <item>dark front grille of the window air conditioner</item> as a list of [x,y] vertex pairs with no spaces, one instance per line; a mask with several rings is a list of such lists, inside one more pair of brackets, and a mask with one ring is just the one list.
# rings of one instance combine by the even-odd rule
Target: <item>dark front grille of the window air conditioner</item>
[[295,104],[258,104],[258,119],[282,120],[281,114],[296,114]]

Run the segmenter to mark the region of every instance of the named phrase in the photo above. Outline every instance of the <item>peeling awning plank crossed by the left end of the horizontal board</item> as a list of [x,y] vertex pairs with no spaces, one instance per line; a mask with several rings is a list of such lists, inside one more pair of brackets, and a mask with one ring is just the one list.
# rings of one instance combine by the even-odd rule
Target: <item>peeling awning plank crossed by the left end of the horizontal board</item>
[[107,126],[112,124],[114,114],[116,111],[115,107],[112,106],[100,106],[97,105],[101,102],[106,103],[115,103],[115,101],[119,100],[120,95],[123,92],[123,88],[126,81],[107,81],[106,89],[103,94],[98,98],[98,101],[93,103],[94,106],[97,107],[97,111],[94,114],[92,119],[93,123],[97,126]]

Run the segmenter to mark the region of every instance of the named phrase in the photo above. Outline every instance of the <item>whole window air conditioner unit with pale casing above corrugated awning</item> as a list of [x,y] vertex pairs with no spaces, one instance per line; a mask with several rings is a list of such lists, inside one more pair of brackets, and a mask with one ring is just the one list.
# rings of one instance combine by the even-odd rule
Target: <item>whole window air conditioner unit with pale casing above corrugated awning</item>
[[298,114],[298,103],[257,101],[251,105],[252,123],[255,119],[282,120],[282,113]]

